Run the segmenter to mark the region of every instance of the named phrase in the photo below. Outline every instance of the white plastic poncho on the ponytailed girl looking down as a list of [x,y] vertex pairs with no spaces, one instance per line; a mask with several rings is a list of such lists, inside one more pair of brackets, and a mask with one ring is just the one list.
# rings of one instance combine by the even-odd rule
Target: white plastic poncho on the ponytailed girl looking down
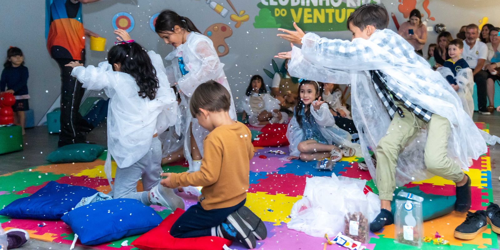
[[[189,71],[184,76],[182,76],[179,69],[179,57],[182,57],[185,69]],[[185,135],[184,157],[189,162],[189,167],[191,167],[192,158],[190,153],[189,124],[192,122],[192,134],[201,155],[203,155],[203,139],[208,134],[208,130],[201,127],[198,120],[191,116],[189,111],[190,96],[199,84],[208,80],[215,80],[222,84],[227,88],[229,94],[231,94],[231,90],[222,68],[224,64],[220,62],[217,52],[213,48],[212,41],[202,34],[190,32],[187,35],[186,42],[174,48],[165,59],[172,61],[172,64],[165,68],[168,79],[171,83],[176,82],[178,88],[180,88],[182,92],[179,104],[181,109],[180,115],[185,119],[183,119],[183,123],[181,124],[181,133]],[[236,120],[236,111],[234,109],[232,94],[229,116]]]

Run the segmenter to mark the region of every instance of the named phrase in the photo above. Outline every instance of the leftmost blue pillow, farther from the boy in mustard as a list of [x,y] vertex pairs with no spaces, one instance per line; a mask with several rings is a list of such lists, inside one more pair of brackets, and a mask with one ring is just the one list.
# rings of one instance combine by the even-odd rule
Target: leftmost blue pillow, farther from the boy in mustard
[[60,219],[83,197],[92,196],[97,190],[86,186],[73,186],[49,181],[28,197],[12,201],[0,210],[0,215],[12,218]]

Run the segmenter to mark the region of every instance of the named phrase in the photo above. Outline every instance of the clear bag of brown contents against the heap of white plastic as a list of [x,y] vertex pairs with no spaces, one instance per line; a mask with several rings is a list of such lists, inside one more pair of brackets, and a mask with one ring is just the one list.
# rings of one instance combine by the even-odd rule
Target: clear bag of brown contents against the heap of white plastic
[[369,241],[368,204],[366,199],[345,199],[343,235],[355,241],[367,243]]

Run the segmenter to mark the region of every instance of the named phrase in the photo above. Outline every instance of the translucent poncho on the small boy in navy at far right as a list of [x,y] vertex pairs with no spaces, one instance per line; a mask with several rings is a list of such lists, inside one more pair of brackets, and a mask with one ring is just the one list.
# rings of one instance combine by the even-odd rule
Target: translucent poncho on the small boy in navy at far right
[[[451,69],[448,67],[438,67],[436,71],[444,78],[448,75],[453,76],[453,72],[451,72]],[[456,76],[453,77],[459,87],[458,90],[456,90],[456,94],[462,102],[463,110],[472,118],[474,114],[474,100],[472,99],[472,93],[474,92],[474,75],[472,74],[472,69],[468,67],[458,69],[458,71],[456,71]]]

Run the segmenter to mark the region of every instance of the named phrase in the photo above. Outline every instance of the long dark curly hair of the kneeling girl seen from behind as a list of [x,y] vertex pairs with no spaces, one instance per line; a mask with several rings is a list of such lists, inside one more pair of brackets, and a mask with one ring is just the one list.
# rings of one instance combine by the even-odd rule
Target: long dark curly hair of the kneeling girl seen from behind
[[141,45],[136,42],[114,45],[107,53],[107,61],[111,65],[119,64],[120,72],[130,74],[135,79],[139,96],[150,100],[156,97],[159,87],[156,70]]

